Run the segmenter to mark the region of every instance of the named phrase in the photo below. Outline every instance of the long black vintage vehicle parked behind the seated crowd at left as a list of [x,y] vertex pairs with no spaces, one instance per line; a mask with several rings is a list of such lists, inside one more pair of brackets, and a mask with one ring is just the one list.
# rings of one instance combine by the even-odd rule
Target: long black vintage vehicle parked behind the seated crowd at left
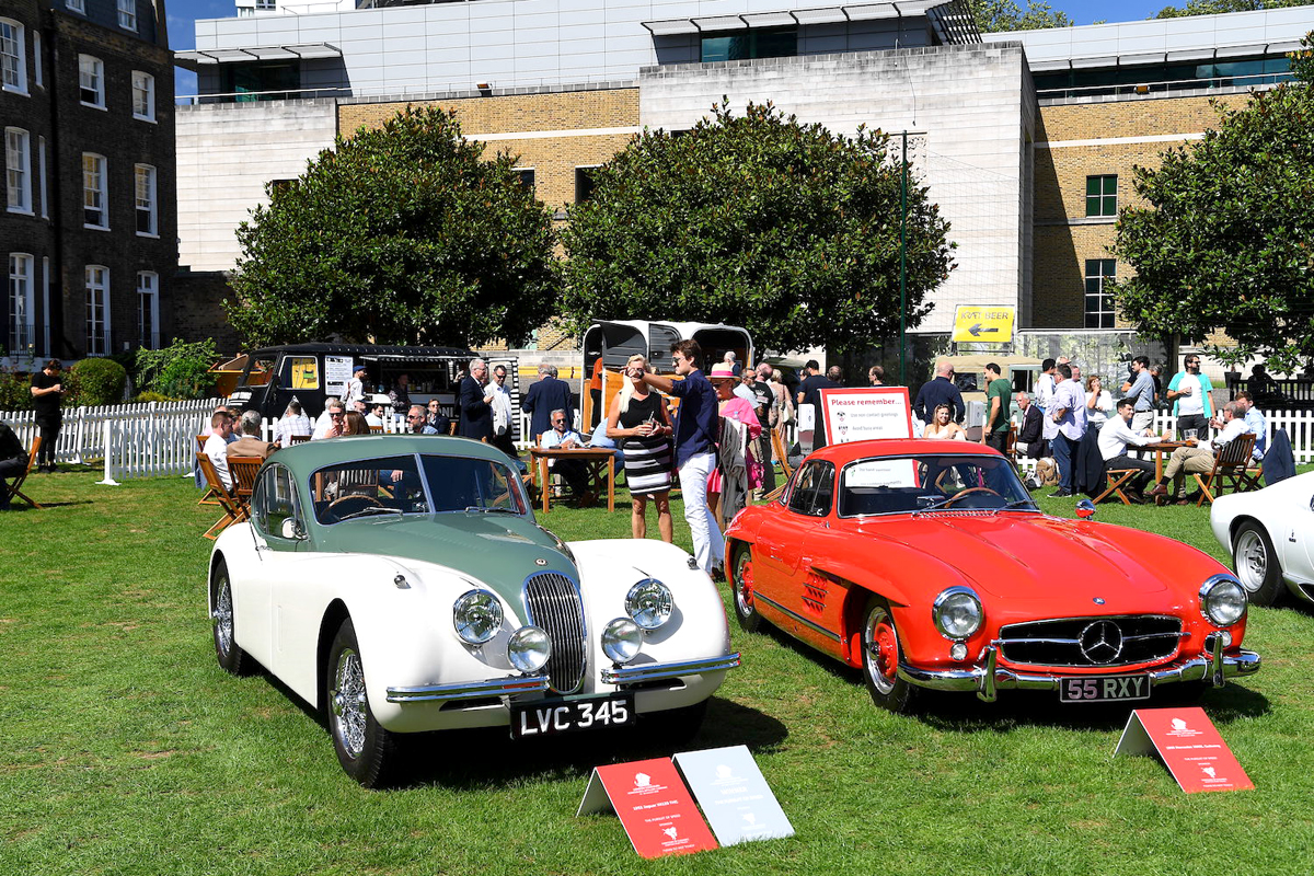
[[283,416],[296,398],[311,419],[323,412],[325,399],[342,395],[356,365],[365,366],[365,394],[388,393],[407,377],[415,405],[438,398],[455,416],[456,378],[474,353],[457,347],[378,347],[371,344],[289,344],[267,347],[247,356],[230,402],[263,416]]

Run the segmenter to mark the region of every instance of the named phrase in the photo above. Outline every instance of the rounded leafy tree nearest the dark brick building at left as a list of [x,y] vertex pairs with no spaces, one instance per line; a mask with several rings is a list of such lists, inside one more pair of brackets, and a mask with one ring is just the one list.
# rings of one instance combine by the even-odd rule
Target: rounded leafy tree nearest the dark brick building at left
[[553,314],[552,214],[453,114],[407,108],[339,137],[238,227],[225,302],[254,344],[516,343]]

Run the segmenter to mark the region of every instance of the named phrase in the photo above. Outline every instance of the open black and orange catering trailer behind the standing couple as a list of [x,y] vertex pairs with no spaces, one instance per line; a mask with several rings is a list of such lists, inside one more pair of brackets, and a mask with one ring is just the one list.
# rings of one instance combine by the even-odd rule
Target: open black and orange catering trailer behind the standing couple
[[696,340],[703,349],[703,373],[735,351],[740,365],[753,366],[753,339],[746,328],[720,323],[649,322],[612,319],[589,326],[583,334],[583,386],[579,393],[582,422],[587,429],[606,415],[611,398],[620,391],[622,369],[635,353],[648,357],[658,374],[674,374],[670,347]]

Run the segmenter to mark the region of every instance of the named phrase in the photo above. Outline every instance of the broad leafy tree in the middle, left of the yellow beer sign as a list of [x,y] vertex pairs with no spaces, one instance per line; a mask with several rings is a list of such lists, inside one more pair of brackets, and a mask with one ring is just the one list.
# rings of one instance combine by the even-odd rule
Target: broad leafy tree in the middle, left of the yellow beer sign
[[[679,135],[644,131],[597,169],[562,232],[564,310],[748,327],[773,349],[899,334],[899,165],[890,138],[837,137],[728,102]],[[909,175],[911,176],[911,175]],[[949,223],[908,190],[907,324],[953,268]]]

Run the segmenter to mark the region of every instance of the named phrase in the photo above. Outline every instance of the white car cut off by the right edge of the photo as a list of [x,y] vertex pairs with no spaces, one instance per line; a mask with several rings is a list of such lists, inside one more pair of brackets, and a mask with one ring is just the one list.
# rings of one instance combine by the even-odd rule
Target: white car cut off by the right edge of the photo
[[1252,605],[1272,605],[1285,591],[1314,602],[1314,471],[1219,496],[1209,525],[1231,550]]

